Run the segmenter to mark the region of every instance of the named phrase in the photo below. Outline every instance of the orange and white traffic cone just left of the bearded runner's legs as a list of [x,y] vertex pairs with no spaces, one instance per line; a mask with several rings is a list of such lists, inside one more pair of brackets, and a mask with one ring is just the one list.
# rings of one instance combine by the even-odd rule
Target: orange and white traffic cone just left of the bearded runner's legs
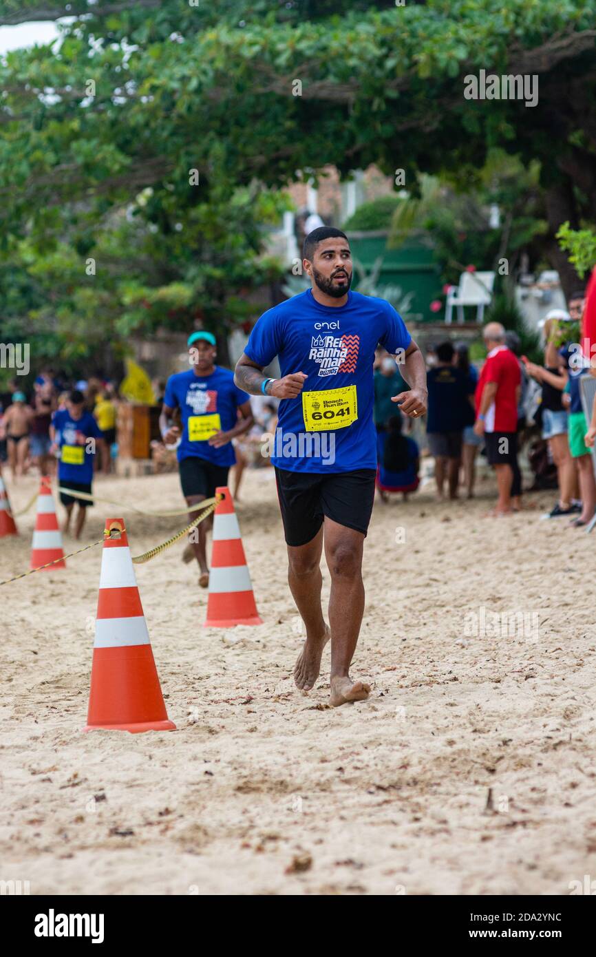
[[216,488],[215,495],[224,498],[217,502],[213,518],[205,627],[262,625],[254,604],[253,585],[230,489],[225,485]]

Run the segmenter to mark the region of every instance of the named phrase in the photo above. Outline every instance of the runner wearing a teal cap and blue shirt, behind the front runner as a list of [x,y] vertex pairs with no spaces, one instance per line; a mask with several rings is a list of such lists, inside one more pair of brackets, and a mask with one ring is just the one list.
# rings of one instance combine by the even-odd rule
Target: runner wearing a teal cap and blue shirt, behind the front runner
[[[211,499],[218,485],[228,484],[228,472],[235,462],[232,438],[253,426],[251,401],[233,383],[233,372],[215,366],[215,336],[193,332],[188,337],[188,372],[170,375],[166,383],[160,428],[166,444],[178,445],[178,468],[182,492],[188,505]],[[180,409],[182,431],[172,426],[171,416]],[[190,511],[195,519],[200,511]],[[209,585],[207,532],[212,516],[189,533],[184,560],[199,563],[199,585]]]

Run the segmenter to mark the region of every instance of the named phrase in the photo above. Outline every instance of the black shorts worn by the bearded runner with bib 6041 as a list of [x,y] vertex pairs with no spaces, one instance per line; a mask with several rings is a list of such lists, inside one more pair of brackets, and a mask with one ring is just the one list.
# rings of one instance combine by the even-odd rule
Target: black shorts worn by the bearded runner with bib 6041
[[306,545],[326,516],[366,534],[375,497],[374,469],[326,474],[276,468],[277,497],[288,545]]

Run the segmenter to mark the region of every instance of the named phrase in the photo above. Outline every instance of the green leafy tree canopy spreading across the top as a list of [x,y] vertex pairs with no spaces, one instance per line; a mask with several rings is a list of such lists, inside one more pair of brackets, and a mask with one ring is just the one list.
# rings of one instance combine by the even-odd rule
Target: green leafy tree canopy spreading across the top
[[[226,311],[258,251],[247,259],[252,240],[238,239],[232,267],[220,236],[213,263],[205,219],[217,234],[222,196],[248,189],[265,197],[298,170],[316,177],[329,163],[343,174],[370,163],[386,173],[403,168],[409,189],[420,170],[457,178],[483,167],[496,146],[525,167],[538,159],[544,252],[563,285],[577,281],[555,234],[596,208],[593,0],[356,2],[341,10],[304,0],[0,3],[0,25],[64,14],[76,19],[52,49],[0,61],[0,255],[29,275],[25,252],[51,260],[66,244],[69,261],[73,250],[81,264],[95,257],[99,277],[99,253],[111,248],[132,291],[114,300],[108,283],[101,301],[126,329],[154,327],[160,301],[169,320],[182,322],[199,289],[214,313]],[[538,105],[466,100],[464,78],[481,69],[537,75]],[[193,168],[198,187],[189,187]],[[137,209],[146,189],[150,201]],[[121,222],[131,204],[137,232]],[[224,222],[235,243],[235,213]],[[249,236],[255,231],[256,215]],[[150,246],[147,233],[163,256],[156,269],[144,257],[144,270],[141,257],[124,256],[137,243]],[[226,283],[226,271],[240,284]],[[226,287],[225,300],[210,282]],[[156,287],[168,290],[165,300],[150,292]],[[99,282],[92,288],[99,300]],[[52,304],[53,322],[64,304],[59,296]]]

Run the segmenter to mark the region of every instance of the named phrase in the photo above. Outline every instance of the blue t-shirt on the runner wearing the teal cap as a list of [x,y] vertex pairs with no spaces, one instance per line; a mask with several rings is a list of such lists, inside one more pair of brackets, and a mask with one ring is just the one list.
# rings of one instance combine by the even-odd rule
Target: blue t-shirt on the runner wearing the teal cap
[[170,375],[164,405],[180,407],[182,413],[178,461],[204,458],[213,465],[233,465],[236,457],[232,442],[216,449],[209,439],[216,432],[230,432],[238,421],[238,406],[249,401],[250,396],[234,386],[229,368],[215,366],[210,375],[195,375],[192,368]]

